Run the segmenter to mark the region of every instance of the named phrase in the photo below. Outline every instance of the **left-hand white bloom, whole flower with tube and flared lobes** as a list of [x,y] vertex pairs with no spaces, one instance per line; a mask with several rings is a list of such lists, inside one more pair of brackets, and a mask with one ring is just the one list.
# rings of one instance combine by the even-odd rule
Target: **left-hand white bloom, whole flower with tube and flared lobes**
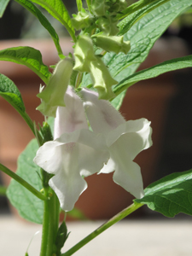
[[57,108],[55,140],[38,149],[35,163],[55,174],[49,186],[64,211],[71,211],[79,195],[87,188],[84,177],[99,172],[108,161],[108,149],[102,134],[88,130],[83,103],[68,86],[66,107]]

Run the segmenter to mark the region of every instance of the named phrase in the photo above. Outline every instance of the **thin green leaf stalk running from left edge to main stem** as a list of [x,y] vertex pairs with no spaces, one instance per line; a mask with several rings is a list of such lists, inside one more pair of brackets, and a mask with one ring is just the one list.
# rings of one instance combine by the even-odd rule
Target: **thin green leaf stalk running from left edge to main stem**
[[32,185],[27,183],[22,177],[18,176],[15,172],[10,171],[6,166],[3,166],[0,164],[0,170],[6,174],[8,174],[10,177],[14,178],[15,181],[20,183],[23,187],[28,189],[30,192],[32,192],[33,195],[36,195],[39,199],[47,201],[47,197],[41,194],[37,189],[33,188]]

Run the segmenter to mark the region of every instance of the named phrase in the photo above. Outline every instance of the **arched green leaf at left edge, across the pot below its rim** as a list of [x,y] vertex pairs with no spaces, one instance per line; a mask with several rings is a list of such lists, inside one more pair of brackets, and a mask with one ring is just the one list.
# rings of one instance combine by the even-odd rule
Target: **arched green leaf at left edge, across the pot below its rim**
[[32,69],[45,84],[48,83],[51,73],[44,65],[42,55],[38,49],[28,46],[13,47],[0,50],[0,61],[12,61]]

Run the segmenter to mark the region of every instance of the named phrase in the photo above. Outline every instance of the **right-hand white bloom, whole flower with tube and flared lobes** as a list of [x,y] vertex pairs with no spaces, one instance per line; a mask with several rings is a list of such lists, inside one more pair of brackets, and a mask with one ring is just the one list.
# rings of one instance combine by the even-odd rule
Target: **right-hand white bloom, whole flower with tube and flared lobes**
[[[123,116],[96,92],[83,89],[84,109],[90,126],[105,137],[110,160],[101,172],[113,172],[113,181],[137,198],[144,195],[140,166],[133,162],[137,154],[152,145],[150,122],[147,119],[125,121]],[[100,172],[100,173],[101,173]]]

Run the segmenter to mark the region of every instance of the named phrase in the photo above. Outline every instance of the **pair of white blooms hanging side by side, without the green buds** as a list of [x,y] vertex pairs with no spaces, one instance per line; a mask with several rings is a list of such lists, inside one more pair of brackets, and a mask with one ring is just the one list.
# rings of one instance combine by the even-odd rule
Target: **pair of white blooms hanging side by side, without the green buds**
[[[152,145],[147,119],[125,121],[123,116],[95,91],[83,89],[78,96],[72,86],[58,107],[54,141],[38,149],[35,163],[54,174],[49,186],[61,208],[71,211],[87,188],[84,177],[114,172],[113,181],[137,198],[143,197],[140,167],[133,162]],[[91,130],[87,124],[89,120]]]

